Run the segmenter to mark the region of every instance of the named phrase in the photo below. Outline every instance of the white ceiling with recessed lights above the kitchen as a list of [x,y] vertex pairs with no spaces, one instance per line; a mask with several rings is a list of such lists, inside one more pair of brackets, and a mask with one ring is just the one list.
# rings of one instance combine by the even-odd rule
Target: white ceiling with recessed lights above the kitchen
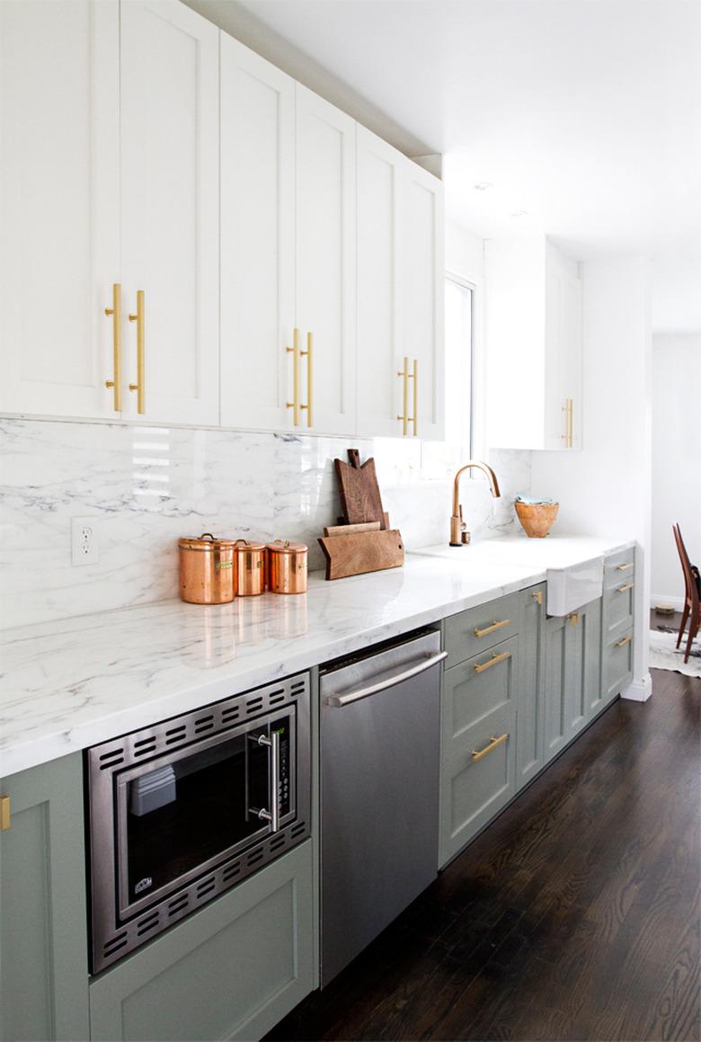
[[645,252],[671,280],[655,324],[701,326],[701,293],[675,291],[680,272],[701,286],[701,2],[189,2],[404,151],[442,153],[459,224],[542,227],[575,259]]

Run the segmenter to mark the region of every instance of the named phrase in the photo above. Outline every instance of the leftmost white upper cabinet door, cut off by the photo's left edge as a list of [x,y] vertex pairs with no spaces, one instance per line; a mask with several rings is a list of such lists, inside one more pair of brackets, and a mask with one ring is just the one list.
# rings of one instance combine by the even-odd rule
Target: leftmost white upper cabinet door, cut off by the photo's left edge
[[0,3],[0,410],[114,417],[117,0]]

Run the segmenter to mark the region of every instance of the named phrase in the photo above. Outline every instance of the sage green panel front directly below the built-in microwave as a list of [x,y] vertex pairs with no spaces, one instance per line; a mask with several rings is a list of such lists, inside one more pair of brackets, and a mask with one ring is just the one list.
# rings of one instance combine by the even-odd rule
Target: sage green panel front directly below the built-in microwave
[[258,1039],[315,987],[310,840],[92,981],[92,1038]]

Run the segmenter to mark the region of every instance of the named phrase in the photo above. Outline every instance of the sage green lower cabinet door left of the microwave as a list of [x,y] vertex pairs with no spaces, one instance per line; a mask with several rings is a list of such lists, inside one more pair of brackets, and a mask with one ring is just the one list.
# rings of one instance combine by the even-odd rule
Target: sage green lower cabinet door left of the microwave
[[87,1039],[87,934],[79,752],[0,782],[0,1038]]

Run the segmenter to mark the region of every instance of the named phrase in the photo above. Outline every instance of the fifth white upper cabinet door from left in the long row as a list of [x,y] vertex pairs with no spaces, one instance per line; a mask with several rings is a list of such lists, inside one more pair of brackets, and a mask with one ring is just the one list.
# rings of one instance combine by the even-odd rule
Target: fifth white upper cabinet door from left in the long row
[[359,125],[356,149],[357,433],[410,435],[409,414],[398,419],[404,414],[402,180],[408,160]]

